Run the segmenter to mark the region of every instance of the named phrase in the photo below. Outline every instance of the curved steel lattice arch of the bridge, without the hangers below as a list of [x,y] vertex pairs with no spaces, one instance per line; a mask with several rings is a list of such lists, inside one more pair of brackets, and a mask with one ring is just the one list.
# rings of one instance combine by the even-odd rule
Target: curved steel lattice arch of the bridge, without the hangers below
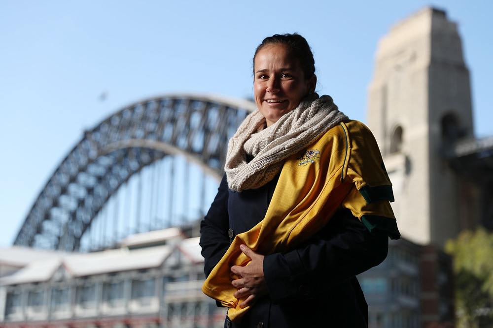
[[85,131],[39,193],[14,245],[78,250],[118,188],[165,156],[181,155],[220,179],[227,142],[255,108],[248,100],[197,93],[126,106]]

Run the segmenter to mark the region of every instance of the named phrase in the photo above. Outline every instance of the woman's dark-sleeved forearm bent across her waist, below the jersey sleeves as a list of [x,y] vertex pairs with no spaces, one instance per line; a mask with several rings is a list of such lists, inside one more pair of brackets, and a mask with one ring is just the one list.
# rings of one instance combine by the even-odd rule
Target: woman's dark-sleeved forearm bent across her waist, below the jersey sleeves
[[382,263],[387,247],[387,236],[371,234],[351,211],[342,210],[300,247],[265,256],[263,272],[271,299],[279,303],[328,292]]

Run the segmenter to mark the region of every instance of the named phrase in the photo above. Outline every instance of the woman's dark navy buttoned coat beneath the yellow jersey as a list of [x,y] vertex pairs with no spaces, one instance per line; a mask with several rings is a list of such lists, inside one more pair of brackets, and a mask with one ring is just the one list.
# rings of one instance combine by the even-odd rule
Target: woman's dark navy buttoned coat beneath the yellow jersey
[[[267,212],[276,179],[258,189],[235,192],[223,177],[201,222],[200,245],[209,275],[233,238]],[[266,255],[269,294],[232,327],[367,327],[368,306],[355,275],[387,256],[388,237],[373,235],[349,210],[340,210],[314,237],[285,254]]]

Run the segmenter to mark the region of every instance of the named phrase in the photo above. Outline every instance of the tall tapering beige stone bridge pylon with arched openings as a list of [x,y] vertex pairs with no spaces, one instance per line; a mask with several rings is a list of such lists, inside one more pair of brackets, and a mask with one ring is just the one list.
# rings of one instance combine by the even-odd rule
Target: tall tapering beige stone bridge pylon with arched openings
[[464,215],[461,182],[442,154],[473,138],[469,71],[444,11],[423,8],[380,40],[367,122],[394,185],[402,236],[443,246],[464,228]]

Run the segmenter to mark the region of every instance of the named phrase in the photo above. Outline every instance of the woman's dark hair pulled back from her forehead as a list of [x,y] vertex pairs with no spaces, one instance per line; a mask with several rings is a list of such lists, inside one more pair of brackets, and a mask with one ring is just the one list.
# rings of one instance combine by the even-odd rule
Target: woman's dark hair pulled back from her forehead
[[269,44],[286,45],[292,51],[294,57],[300,61],[301,69],[305,75],[305,80],[308,80],[315,74],[315,60],[313,59],[312,49],[308,45],[307,40],[298,33],[274,34],[273,36],[266,37],[255,50],[253,65],[255,65],[255,57],[257,56],[257,53]]

